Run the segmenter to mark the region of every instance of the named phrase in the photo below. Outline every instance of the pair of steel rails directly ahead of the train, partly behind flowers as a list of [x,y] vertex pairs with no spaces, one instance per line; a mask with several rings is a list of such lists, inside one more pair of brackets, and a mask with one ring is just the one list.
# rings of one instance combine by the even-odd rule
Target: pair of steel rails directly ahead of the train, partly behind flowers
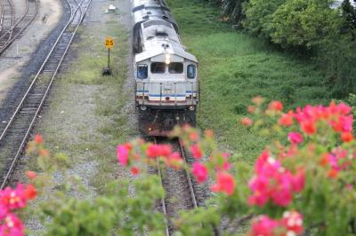
[[[177,142],[178,143],[179,151],[181,153],[182,159],[185,162],[185,164],[188,165],[185,149],[184,149],[184,146],[182,146],[181,139],[173,139],[172,142]],[[158,143],[157,138],[154,138],[154,143],[155,144]],[[163,183],[164,180],[163,180],[163,175],[162,175],[162,170],[161,170],[161,167],[160,167],[159,160],[157,160],[157,165],[158,165],[158,177],[160,179],[161,185],[164,186],[164,183]],[[190,173],[189,173],[189,171],[187,169],[185,169],[184,171],[185,171],[185,177],[187,178],[187,182],[188,182],[188,185],[189,185],[190,199],[191,199],[191,201],[193,203],[192,204],[193,208],[198,208],[197,197],[195,195],[193,182],[192,182],[192,179],[190,177]],[[165,200],[165,198],[161,199],[161,204],[162,204],[163,214],[166,216],[166,218],[168,218],[168,212],[167,212],[167,208],[166,208],[166,200]],[[171,236],[171,235],[172,234],[171,234],[170,229],[169,229],[169,224],[167,224],[166,225],[166,236]]]

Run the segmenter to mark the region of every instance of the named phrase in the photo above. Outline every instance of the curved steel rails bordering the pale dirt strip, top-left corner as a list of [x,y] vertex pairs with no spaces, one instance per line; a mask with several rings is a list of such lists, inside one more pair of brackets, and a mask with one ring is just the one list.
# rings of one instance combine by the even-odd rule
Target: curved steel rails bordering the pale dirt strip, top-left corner
[[[31,8],[32,6],[35,6],[35,9]],[[35,11],[32,12],[33,10]],[[34,0],[34,2],[29,2],[28,0],[26,0],[26,10],[23,13],[23,15],[20,17],[20,20],[17,20],[17,22],[12,25],[12,28],[7,30],[4,33],[4,35],[1,35],[0,37],[0,43],[2,44],[2,45],[0,44],[0,55],[28,27],[28,25],[33,20],[35,20],[37,13],[38,13],[38,0]]]

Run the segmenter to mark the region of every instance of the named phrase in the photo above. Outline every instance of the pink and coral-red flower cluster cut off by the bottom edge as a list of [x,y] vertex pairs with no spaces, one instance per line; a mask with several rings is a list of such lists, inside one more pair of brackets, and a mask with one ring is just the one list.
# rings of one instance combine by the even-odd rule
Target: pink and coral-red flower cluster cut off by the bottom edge
[[251,236],[286,236],[303,233],[303,216],[296,211],[287,211],[280,220],[259,216],[252,224]]

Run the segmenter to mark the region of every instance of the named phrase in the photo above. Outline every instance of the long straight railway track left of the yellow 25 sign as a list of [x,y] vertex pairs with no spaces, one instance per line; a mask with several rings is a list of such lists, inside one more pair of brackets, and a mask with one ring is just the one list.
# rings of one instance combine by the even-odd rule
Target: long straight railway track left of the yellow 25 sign
[[61,62],[77,33],[85,12],[92,0],[67,0],[70,18],[54,43],[42,67],[29,85],[12,118],[0,134],[0,188],[3,189],[11,177],[12,170],[26,145],[30,131],[36,122]]

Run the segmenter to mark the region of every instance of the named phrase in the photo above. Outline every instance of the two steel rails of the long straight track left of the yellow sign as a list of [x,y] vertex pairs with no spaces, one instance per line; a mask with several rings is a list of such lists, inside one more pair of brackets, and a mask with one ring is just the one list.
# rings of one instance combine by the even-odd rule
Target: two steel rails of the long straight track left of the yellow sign
[[[77,33],[77,29],[79,28],[79,26],[81,25],[82,21],[84,20],[85,18],[85,12],[87,11],[89,5],[91,4],[92,0],[82,0],[80,1],[80,3],[76,0],[76,4],[77,4],[77,8],[74,10],[73,7],[72,7],[72,4],[73,3],[70,3],[70,0],[66,0],[67,3],[69,4],[69,7],[70,7],[70,11],[71,11],[71,15],[70,15],[70,18],[69,18],[69,21],[68,23],[66,24],[66,26],[63,28],[63,30],[61,31],[61,34],[58,36],[56,42],[54,43],[53,45],[53,48],[51,49],[51,51],[48,53],[46,59],[44,59],[44,63],[43,65],[41,66],[41,68],[38,70],[35,78],[33,79],[32,83],[29,85],[28,87],[28,90],[26,91],[25,95],[23,96],[23,98],[21,99],[20,101],[20,104],[19,106],[17,106],[15,112],[12,114],[12,118],[10,119],[10,121],[7,123],[6,127],[4,128],[4,131],[2,132],[1,136],[0,136],[0,144],[2,141],[4,141],[4,137],[6,135],[6,133],[9,131],[11,125],[12,125],[12,122],[14,122],[15,118],[17,117],[17,115],[19,114],[20,112],[20,109],[22,108],[22,106],[24,105],[24,102],[25,100],[28,98],[28,94],[30,92],[30,90],[32,90],[34,88],[34,84],[36,83],[37,79],[39,78],[39,75],[43,74],[44,73],[44,67],[47,65],[47,62],[49,61],[49,59],[51,58],[51,56],[53,55],[53,51],[54,49],[56,48],[56,46],[59,45],[59,42],[61,40],[61,37],[66,33],[67,29],[69,29],[69,27],[72,25],[73,23],[73,20],[76,19],[76,14],[77,12],[80,12],[80,15],[79,15],[79,20],[77,21],[77,25],[75,25],[75,28],[74,30],[71,32],[71,35],[70,35],[70,39],[69,39],[69,43],[67,43],[67,46],[65,48],[65,51],[63,52],[63,54],[61,55],[61,59],[59,60],[55,70],[54,70],[54,73],[50,79],[50,82],[48,83],[45,91],[44,91],[44,95],[39,103],[39,105],[37,106],[36,108],[36,112],[35,114],[33,114],[33,118],[32,120],[30,121],[29,125],[28,125],[28,129],[26,130],[26,133],[24,135],[24,137],[22,138],[21,142],[20,142],[20,147],[17,149],[17,152],[15,154],[15,156],[12,158],[12,162],[11,162],[11,165],[10,165],[10,168],[7,170],[7,173],[4,177],[4,180],[2,182],[2,185],[0,187],[0,189],[4,189],[4,186],[6,185],[7,181],[9,180],[9,177],[11,176],[12,174],[12,169],[14,168],[15,164],[16,164],[16,161],[19,159],[20,157],[20,153],[22,152],[26,142],[27,142],[27,139],[28,139],[28,136],[30,134],[30,131],[32,130],[32,127],[33,125],[35,124],[36,122],[36,117],[37,115],[39,114],[39,112],[41,111],[41,108],[44,104],[44,100],[45,98],[47,97],[51,87],[52,87],[52,84],[53,84],[53,81],[54,81],[54,78],[55,76],[57,75],[60,67],[61,67],[61,62],[63,61],[63,59],[65,58],[65,56],[67,55],[67,52],[69,51],[69,46],[70,46],[70,43],[72,43],[73,41],[73,38],[74,36],[76,35]],[[82,8],[82,4],[83,3],[86,3],[86,7],[85,8]]]

